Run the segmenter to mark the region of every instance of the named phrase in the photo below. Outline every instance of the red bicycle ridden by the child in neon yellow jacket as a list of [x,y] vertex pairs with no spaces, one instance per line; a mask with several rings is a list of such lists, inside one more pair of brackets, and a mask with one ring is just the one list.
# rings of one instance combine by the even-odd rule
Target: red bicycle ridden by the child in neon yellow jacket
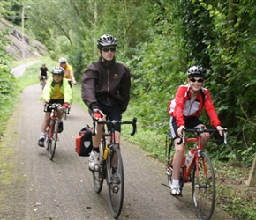
[[46,150],[49,151],[49,159],[52,160],[55,155],[56,142],[58,141],[58,122],[57,120],[57,110],[62,109],[63,106],[58,103],[47,104],[45,107],[51,109],[49,127],[46,129],[46,136],[44,141],[44,146]]

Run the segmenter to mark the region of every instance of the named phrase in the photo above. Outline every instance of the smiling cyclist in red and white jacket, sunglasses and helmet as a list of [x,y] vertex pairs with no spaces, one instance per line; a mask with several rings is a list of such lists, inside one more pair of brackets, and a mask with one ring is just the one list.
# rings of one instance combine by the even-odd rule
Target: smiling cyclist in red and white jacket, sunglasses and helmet
[[[178,196],[181,194],[179,187],[179,171],[184,156],[184,143],[178,145],[184,128],[201,128],[206,126],[198,118],[205,108],[212,125],[219,130],[222,136],[221,121],[215,111],[215,106],[211,99],[210,92],[203,88],[206,82],[207,72],[203,67],[192,66],[187,71],[188,84],[181,85],[177,89],[175,99],[169,101],[168,110],[170,114],[170,131],[175,143],[175,155],[173,160],[173,181],[170,194]],[[202,148],[204,148],[210,138],[209,133],[202,135]]]

